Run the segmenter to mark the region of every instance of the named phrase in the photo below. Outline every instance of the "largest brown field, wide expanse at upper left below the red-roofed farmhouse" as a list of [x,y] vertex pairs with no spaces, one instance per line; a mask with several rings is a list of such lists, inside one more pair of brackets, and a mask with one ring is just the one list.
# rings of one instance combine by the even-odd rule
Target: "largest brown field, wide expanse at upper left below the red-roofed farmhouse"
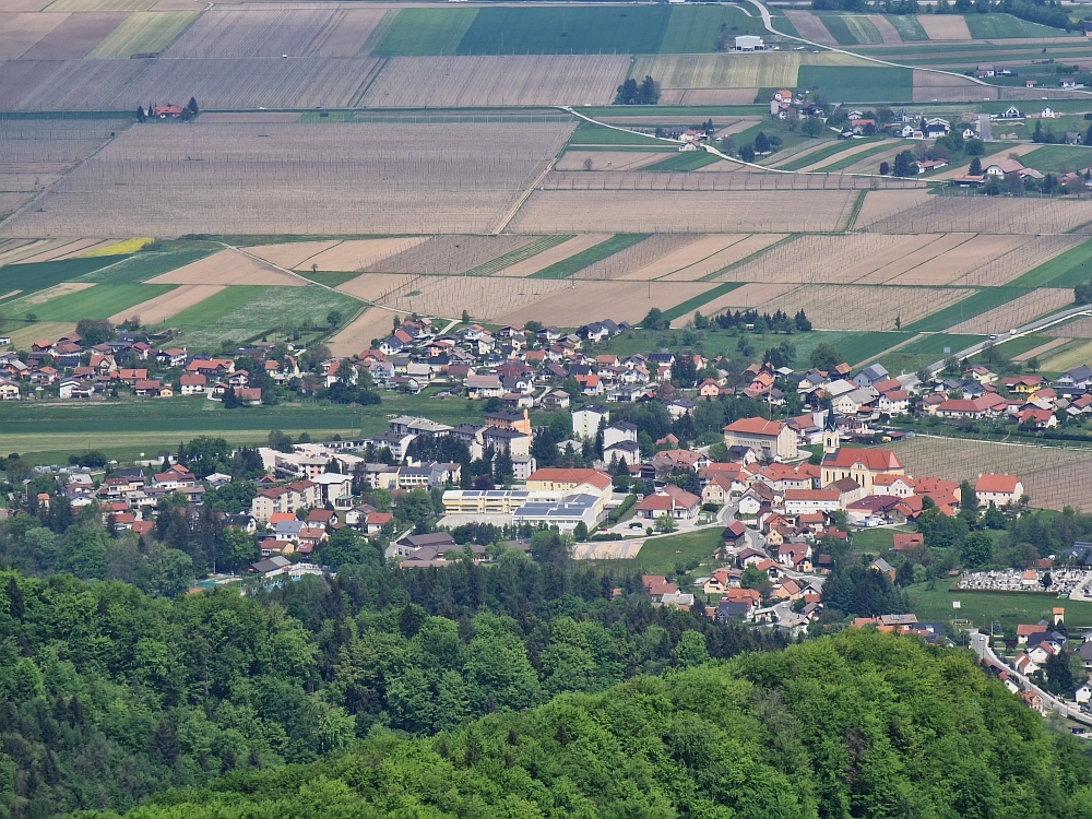
[[[80,124],[91,134],[112,122]],[[50,188],[40,210],[0,225],[0,237],[487,233],[572,128],[560,119],[422,123],[391,140],[390,126],[365,122],[134,126]],[[26,156],[50,147],[20,145]],[[8,151],[0,139],[0,157]],[[170,195],[151,189],[152,178]]]

